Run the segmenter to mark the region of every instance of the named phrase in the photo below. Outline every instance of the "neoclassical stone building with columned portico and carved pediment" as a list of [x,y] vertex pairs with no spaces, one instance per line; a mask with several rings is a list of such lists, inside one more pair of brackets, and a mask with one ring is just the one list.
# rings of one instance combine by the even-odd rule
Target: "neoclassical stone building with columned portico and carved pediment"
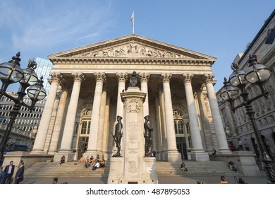
[[143,115],[151,117],[157,160],[208,161],[213,148],[230,153],[213,88],[214,57],[133,34],[49,59],[51,87],[32,154],[111,158],[121,93],[133,71],[147,94]]

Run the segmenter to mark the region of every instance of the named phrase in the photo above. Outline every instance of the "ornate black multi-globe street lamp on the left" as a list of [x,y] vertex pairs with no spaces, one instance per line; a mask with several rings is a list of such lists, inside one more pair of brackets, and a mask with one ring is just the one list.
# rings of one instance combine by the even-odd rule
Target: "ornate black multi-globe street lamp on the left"
[[[11,134],[13,123],[16,120],[17,115],[19,114],[20,108],[22,106],[25,106],[31,112],[33,107],[35,107],[35,103],[38,100],[43,100],[46,97],[46,91],[43,88],[43,77],[39,79],[34,71],[34,69],[36,69],[37,67],[36,62],[32,62],[29,60],[27,68],[21,69],[19,63],[21,59],[19,57],[20,52],[18,52],[16,56],[11,59],[11,61],[0,64],[0,80],[2,81],[2,86],[0,89],[0,100],[4,95],[7,98],[13,100],[15,103],[13,105],[13,109],[11,110],[11,117],[6,127],[3,139],[1,140],[0,163],[3,163],[4,161],[4,150],[6,148],[6,143],[8,141],[8,137]],[[6,93],[6,89],[11,83],[17,82],[20,83],[20,88],[18,89],[18,97],[14,98],[13,96],[8,95],[8,93]],[[23,102],[23,98],[26,95],[26,89],[27,95],[32,100],[31,105],[27,105]]]

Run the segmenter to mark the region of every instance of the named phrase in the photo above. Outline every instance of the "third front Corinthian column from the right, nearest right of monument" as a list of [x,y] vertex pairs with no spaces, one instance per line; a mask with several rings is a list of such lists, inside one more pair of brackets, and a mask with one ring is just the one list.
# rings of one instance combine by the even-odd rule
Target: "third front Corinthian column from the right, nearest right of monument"
[[161,74],[161,80],[164,86],[164,109],[167,132],[167,155],[169,162],[181,162],[181,153],[178,153],[176,147],[175,126],[173,124],[173,107],[170,91],[170,78],[172,74]]

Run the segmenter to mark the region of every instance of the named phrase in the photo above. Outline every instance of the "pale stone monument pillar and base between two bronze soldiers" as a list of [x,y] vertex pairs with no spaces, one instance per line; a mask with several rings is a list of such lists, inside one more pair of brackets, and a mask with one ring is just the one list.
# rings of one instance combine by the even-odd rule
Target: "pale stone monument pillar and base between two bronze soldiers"
[[124,104],[122,157],[110,160],[109,184],[157,183],[156,158],[145,157],[143,103],[146,93],[130,87],[121,93]]

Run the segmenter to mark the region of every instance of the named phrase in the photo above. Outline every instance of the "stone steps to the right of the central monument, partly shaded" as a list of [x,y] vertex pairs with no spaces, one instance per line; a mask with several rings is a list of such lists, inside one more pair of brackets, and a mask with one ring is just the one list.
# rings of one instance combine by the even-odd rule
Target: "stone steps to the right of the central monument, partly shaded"
[[181,163],[157,162],[157,175],[231,175],[240,176],[240,172],[234,172],[225,161],[184,161],[188,169],[186,173],[181,171]]

